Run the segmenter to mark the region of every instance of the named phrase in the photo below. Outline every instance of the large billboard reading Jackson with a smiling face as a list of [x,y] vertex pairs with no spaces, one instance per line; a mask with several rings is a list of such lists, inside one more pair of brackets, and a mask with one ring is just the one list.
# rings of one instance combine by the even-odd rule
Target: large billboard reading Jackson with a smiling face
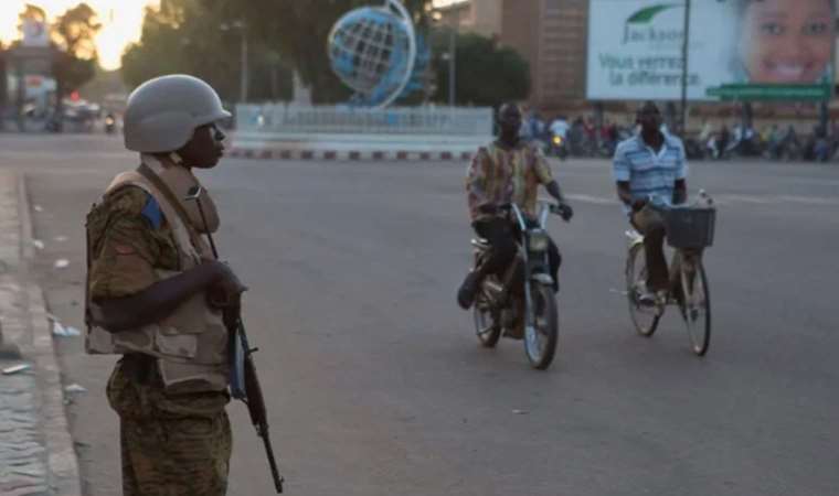
[[[683,0],[591,0],[592,100],[681,98]],[[833,0],[693,0],[688,98],[827,100]]]

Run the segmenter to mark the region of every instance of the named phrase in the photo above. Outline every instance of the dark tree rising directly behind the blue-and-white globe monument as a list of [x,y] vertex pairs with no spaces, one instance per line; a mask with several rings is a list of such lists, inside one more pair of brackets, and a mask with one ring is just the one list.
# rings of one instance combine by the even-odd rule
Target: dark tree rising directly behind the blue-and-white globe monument
[[[291,62],[316,103],[346,100],[350,90],[334,76],[327,53],[332,25],[344,13],[370,6],[369,0],[203,0],[221,4],[227,19],[241,20],[252,40],[264,40]],[[427,22],[428,0],[405,0],[405,7],[422,30]]]

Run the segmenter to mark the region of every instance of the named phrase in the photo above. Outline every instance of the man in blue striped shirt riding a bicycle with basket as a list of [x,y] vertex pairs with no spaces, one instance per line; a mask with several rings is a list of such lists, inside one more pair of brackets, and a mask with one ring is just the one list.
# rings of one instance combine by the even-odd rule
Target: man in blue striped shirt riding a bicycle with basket
[[639,301],[652,305],[667,299],[670,278],[663,220],[648,203],[650,198],[670,205],[687,202],[688,164],[682,141],[660,131],[661,112],[655,103],[641,106],[637,122],[640,133],[620,142],[615,151],[614,177],[630,224],[644,235],[647,281]]

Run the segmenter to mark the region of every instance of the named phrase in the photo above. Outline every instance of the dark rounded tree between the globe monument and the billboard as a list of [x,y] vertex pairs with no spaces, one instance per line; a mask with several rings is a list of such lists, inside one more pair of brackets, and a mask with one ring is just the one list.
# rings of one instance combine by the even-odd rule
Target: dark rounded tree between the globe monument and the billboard
[[[449,62],[442,56],[448,51],[448,32],[437,32],[432,37],[434,53],[439,54],[434,64],[434,99],[440,103],[449,100]],[[495,107],[530,95],[530,66],[513,48],[479,34],[458,34],[455,58],[455,97],[459,105]]]

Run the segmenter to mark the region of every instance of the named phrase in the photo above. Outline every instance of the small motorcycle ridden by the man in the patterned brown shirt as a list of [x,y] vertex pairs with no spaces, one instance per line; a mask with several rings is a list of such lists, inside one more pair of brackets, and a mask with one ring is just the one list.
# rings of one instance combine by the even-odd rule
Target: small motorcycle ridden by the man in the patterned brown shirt
[[[567,211],[553,202],[540,200],[539,206],[535,223],[529,223],[514,204],[499,207],[506,218],[512,217],[519,226],[519,249],[501,277],[489,274],[484,279],[472,316],[481,345],[492,348],[501,335],[523,337],[531,366],[544,370],[553,362],[560,332],[545,223],[549,214],[569,217]],[[486,239],[472,239],[471,244],[475,267],[479,267],[489,257],[491,246]]]

